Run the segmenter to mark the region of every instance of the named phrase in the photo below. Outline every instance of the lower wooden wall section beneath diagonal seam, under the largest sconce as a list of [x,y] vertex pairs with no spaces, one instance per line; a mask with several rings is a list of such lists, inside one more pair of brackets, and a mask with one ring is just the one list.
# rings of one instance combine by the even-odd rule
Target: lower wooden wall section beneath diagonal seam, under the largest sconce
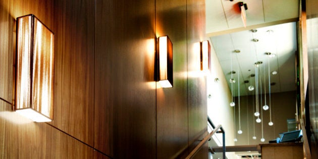
[[107,158],[46,123],[32,122],[0,100],[0,158]]

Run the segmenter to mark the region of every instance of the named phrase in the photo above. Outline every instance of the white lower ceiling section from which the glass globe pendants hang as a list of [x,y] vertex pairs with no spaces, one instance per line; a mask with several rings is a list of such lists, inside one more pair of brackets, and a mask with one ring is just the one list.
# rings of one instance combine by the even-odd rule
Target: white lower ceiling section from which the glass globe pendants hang
[[[240,95],[250,93],[247,87],[252,83],[255,85],[255,78],[252,78],[253,82],[250,83],[250,75],[255,74],[254,63],[257,61],[262,62],[258,68],[258,78],[261,78],[262,82],[268,83],[268,62],[270,62],[270,72],[274,70],[279,72],[277,75],[271,75],[271,83],[276,83],[271,88],[272,92],[295,90],[295,26],[293,22],[258,28],[257,32],[247,30],[210,38],[230,88],[230,72],[236,71],[233,75],[237,81],[234,84],[235,96],[238,95],[238,73],[240,74]],[[258,42],[254,42],[253,38],[257,38]],[[240,53],[235,53],[235,49],[239,49]],[[272,52],[277,56],[269,58],[265,52]],[[249,80],[249,83],[244,84],[244,80]]]

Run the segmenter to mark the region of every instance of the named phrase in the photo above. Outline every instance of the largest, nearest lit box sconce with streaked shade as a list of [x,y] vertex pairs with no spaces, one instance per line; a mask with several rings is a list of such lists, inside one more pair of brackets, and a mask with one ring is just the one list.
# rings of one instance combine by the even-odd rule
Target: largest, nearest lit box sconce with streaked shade
[[17,18],[15,111],[35,122],[53,119],[54,33],[34,15]]

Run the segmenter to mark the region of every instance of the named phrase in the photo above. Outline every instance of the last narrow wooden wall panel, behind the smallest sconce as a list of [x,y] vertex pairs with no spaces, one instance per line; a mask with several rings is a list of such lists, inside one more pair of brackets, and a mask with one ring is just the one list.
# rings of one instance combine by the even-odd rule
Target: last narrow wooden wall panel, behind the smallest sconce
[[207,132],[207,72],[200,70],[200,41],[206,40],[204,4],[187,1],[189,152]]

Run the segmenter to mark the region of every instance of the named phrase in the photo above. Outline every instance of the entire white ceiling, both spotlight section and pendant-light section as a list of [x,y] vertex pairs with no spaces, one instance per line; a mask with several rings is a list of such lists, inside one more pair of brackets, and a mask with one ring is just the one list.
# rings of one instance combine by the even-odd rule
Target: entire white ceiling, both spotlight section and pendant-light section
[[[238,96],[238,80],[240,80],[241,96],[252,93],[247,88],[251,84],[255,85],[255,78],[252,78],[251,83],[250,75],[255,74],[254,63],[257,61],[263,62],[260,65],[261,74],[258,72],[258,78],[261,75],[264,81],[264,75],[266,75],[267,92],[269,88],[268,61],[270,61],[270,72],[278,71],[277,75],[271,75],[271,83],[276,83],[271,86],[271,92],[296,90],[295,51],[297,42],[296,23],[293,21],[298,19],[299,1],[255,0],[244,3],[247,3],[248,7],[246,28],[243,27],[238,1],[206,0],[206,33],[210,36],[230,89],[232,55],[232,70],[236,71],[236,74],[233,74],[233,78],[236,80],[235,96]],[[253,33],[251,29],[256,29],[257,32]],[[269,33],[268,30],[272,30],[272,32]],[[257,38],[259,41],[254,42],[253,38]],[[239,49],[240,53],[235,53],[235,49]],[[269,59],[264,54],[265,52],[272,52],[277,56]],[[264,72],[266,73],[264,74]],[[244,84],[245,80],[249,80],[249,83]],[[264,87],[262,87],[262,91],[264,91]]]

